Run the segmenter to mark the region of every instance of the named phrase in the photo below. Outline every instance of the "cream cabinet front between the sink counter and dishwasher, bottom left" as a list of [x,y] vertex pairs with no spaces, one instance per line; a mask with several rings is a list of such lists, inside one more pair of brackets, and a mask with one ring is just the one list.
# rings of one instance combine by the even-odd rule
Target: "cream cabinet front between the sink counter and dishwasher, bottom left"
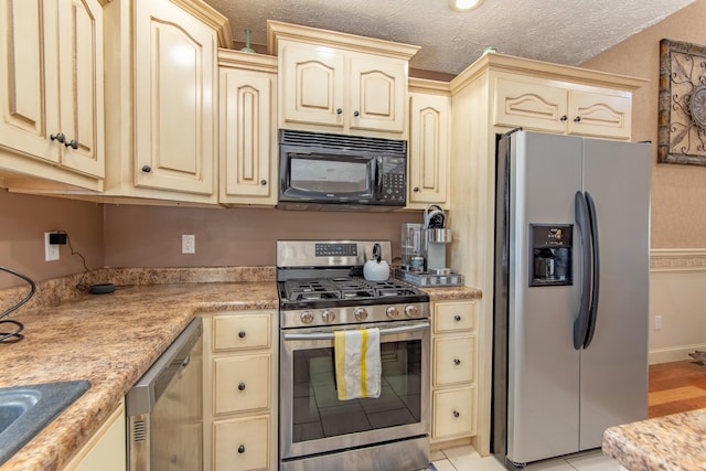
[[127,469],[125,400],[64,467],[64,471]]

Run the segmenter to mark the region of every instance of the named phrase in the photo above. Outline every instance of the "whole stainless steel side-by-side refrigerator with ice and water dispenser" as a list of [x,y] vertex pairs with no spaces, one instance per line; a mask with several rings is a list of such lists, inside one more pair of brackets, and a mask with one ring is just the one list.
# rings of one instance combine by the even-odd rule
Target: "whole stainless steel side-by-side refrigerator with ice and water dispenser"
[[523,130],[498,148],[492,449],[512,469],[646,418],[651,152]]

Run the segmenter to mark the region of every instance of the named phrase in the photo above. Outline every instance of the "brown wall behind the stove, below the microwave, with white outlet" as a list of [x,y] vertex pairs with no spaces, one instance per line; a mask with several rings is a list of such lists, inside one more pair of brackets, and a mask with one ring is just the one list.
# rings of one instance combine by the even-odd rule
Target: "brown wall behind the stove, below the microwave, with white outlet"
[[[277,239],[385,239],[400,255],[403,223],[422,213],[345,213],[270,208],[204,210],[106,205],[108,267],[274,266]],[[182,255],[182,234],[196,253]]]

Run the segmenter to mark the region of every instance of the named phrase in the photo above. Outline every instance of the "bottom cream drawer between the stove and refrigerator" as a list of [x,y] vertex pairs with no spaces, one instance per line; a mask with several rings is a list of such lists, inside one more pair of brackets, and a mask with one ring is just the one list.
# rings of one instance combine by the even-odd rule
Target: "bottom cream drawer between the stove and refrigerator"
[[434,393],[432,438],[475,435],[475,387]]

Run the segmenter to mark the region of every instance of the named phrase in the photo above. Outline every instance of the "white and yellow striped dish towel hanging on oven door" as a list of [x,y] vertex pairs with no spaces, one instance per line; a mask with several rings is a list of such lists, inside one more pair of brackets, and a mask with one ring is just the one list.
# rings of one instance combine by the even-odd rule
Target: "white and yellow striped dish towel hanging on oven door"
[[333,351],[339,400],[379,397],[379,330],[335,331]]

